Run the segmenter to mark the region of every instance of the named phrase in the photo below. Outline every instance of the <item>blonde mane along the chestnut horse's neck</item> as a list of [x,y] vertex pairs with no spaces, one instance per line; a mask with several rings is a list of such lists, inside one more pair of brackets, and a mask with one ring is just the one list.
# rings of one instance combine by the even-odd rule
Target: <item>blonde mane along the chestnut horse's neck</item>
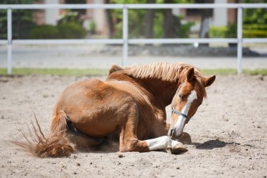
[[[148,65],[131,66],[124,68],[124,73],[135,78],[159,79],[167,82],[177,82],[179,77],[185,75],[186,68],[194,68],[185,63],[152,63]],[[200,76],[200,71],[195,68],[195,75]]]

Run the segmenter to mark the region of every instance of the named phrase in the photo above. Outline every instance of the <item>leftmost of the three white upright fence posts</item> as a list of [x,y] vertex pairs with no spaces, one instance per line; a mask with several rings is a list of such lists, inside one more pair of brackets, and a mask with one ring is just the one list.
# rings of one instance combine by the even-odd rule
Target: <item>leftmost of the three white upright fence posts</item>
[[8,74],[12,73],[12,9],[8,8]]

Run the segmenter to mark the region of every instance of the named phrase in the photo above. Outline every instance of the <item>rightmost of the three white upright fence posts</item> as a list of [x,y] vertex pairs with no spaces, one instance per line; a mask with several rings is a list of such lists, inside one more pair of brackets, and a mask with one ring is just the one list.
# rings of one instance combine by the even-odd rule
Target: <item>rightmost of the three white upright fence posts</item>
[[242,74],[242,7],[237,8],[237,73]]

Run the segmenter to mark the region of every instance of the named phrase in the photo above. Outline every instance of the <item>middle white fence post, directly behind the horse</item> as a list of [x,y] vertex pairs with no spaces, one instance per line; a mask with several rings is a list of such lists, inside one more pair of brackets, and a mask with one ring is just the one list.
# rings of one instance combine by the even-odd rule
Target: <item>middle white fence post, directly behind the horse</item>
[[122,34],[123,34],[123,61],[122,66],[127,65],[128,58],[128,8],[124,6],[123,8],[123,23],[122,23]]

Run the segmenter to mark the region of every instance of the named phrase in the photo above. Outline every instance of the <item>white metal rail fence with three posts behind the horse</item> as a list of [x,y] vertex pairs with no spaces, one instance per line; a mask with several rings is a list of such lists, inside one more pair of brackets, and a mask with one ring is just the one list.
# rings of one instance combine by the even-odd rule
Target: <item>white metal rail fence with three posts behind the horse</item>
[[[122,39],[12,39],[12,10],[13,9],[123,9]],[[237,38],[196,38],[196,39],[129,39],[128,37],[128,9],[149,8],[237,8]],[[8,37],[0,44],[7,45],[8,74],[12,73],[12,44],[122,44],[122,65],[126,65],[129,44],[200,44],[207,43],[236,43],[237,44],[237,72],[242,73],[242,44],[267,43],[267,38],[242,38],[242,12],[243,8],[267,8],[267,4],[14,4],[0,5],[0,9],[7,9]]]

